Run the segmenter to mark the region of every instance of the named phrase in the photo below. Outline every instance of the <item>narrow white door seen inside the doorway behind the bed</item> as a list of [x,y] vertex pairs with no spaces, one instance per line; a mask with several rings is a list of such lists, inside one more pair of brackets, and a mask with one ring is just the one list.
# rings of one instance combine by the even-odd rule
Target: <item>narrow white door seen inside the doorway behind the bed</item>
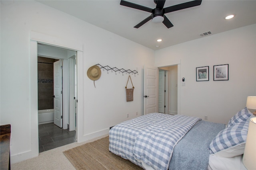
[[159,70],[158,112],[165,113],[165,71]]

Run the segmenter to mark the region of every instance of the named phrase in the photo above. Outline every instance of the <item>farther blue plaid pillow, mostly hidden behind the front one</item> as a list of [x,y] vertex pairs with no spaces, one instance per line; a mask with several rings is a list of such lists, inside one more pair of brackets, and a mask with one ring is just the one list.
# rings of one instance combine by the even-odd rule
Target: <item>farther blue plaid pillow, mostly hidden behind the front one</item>
[[245,107],[244,109],[238,111],[236,113],[236,115],[234,115],[230,119],[230,121],[228,122],[227,127],[233,126],[233,125],[235,125],[237,123],[240,123],[240,122],[247,121],[247,119],[251,116],[253,116],[253,114],[247,109],[247,107]]

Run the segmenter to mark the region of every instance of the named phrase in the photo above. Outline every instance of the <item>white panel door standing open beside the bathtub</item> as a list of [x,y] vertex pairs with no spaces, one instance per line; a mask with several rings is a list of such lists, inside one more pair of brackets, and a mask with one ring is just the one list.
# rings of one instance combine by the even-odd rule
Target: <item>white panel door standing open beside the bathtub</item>
[[62,60],[53,64],[54,124],[62,128]]

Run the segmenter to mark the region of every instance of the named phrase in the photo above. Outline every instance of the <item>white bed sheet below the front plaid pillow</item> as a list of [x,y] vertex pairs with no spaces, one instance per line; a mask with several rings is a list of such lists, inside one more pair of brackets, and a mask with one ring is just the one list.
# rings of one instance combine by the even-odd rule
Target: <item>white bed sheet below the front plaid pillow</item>
[[208,170],[247,170],[242,160],[243,155],[226,158],[210,154]]

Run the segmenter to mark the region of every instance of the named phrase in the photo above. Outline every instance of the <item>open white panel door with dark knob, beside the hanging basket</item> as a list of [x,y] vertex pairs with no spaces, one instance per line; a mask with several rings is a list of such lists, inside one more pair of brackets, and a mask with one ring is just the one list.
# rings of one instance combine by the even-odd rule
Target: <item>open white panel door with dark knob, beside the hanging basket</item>
[[158,112],[158,68],[144,66],[144,115]]

